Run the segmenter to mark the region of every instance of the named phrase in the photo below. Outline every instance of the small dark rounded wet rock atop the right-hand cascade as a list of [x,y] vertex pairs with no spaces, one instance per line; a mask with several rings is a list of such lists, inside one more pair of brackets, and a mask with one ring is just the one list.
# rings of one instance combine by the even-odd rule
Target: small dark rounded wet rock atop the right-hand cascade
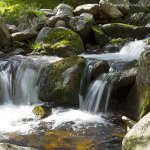
[[108,73],[109,72],[109,64],[107,61],[98,61],[95,63],[92,69],[92,77],[96,78],[98,75],[102,73]]

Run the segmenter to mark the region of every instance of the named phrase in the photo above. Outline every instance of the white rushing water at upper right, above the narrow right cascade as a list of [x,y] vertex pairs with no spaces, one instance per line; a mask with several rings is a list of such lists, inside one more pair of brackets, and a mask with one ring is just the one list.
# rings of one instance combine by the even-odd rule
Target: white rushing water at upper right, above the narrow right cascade
[[106,54],[82,54],[84,58],[97,59],[97,60],[116,60],[116,61],[132,61],[139,59],[141,53],[147,46],[146,40],[139,40],[125,44],[118,53]]

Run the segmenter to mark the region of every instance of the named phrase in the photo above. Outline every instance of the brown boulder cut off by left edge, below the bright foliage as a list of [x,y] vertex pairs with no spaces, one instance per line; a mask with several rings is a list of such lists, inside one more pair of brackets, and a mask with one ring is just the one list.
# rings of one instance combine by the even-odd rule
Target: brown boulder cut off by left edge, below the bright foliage
[[10,44],[10,33],[6,24],[0,18],[0,46],[6,46]]

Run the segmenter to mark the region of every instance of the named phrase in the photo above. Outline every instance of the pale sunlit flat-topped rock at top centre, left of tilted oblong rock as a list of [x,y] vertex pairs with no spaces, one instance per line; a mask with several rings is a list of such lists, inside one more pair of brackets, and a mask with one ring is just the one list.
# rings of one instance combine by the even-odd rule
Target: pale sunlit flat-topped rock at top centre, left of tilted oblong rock
[[76,7],[74,10],[75,15],[81,15],[82,13],[92,14],[94,17],[100,15],[101,8],[98,4],[84,4]]

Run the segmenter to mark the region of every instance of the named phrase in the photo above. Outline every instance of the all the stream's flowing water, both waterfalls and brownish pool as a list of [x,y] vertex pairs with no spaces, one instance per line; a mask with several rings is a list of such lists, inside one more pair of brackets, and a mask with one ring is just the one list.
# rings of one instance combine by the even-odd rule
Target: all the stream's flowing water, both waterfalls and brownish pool
[[[125,130],[118,114],[98,113],[103,97],[102,110],[107,112],[113,84],[105,74],[90,84],[92,67],[97,60],[109,60],[112,64],[112,60],[138,59],[145,46],[145,41],[135,41],[125,45],[120,53],[82,55],[88,63],[79,93],[81,109],[53,108],[52,115],[42,120],[35,119],[32,114],[33,107],[41,103],[38,98],[40,81],[45,68],[61,58],[12,56],[1,59],[0,141],[39,150],[120,150]],[[84,90],[85,82],[86,86],[90,84],[87,91]]]

